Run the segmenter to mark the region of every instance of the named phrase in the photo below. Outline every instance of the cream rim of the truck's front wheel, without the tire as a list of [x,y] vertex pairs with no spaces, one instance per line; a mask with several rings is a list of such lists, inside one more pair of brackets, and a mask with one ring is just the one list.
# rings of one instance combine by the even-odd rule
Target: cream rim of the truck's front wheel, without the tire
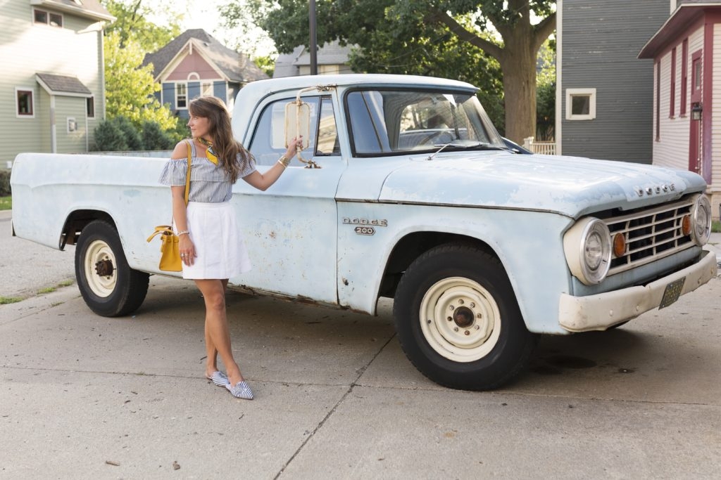
[[428,289],[420,304],[420,324],[430,347],[456,362],[487,356],[501,329],[493,296],[463,277],[443,279]]

